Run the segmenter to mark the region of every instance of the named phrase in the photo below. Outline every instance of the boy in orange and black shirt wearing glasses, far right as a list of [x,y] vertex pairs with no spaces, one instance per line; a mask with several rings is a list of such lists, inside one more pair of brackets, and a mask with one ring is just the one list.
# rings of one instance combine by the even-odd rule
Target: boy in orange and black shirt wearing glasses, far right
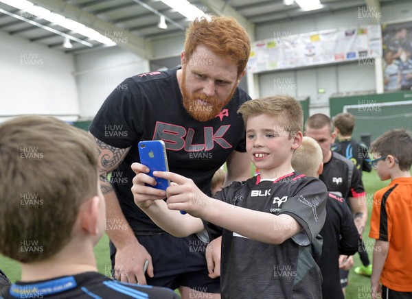
[[[412,298],[412,137],[391,130],[371,143],[380,180],[391,180],[376,191],[369,237],[376,239],[371,276],[372,298]],[[382,287],[380,286],[382,283]]]

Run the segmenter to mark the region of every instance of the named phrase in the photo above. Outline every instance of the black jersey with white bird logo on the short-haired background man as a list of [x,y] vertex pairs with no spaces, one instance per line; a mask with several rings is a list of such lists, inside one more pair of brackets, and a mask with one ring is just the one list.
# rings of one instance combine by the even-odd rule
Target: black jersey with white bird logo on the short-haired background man
[[356,171],[354,163],[336,152],[332,152],[332,158],[323,164],[319,179],[325,183],[329,192],[346,200],[365,196],[360,171]]

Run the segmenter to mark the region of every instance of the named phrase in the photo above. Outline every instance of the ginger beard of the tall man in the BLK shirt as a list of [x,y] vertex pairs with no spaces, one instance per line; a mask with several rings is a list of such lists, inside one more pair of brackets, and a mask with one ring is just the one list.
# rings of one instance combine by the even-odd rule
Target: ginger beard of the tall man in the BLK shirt
[[[225,101],[220,101],[217,97],[208,97],[204,93],[193,93],[190,94],[186,88],[186,78],[185,78],[185,71],[182,69],[182,93],[183,93],[183,106],[185,107],[187,113],[192,116],[194,119],[198,121],[209,121],[214,119],[220,111],[222,111],[223,107],[229,103],[233,93],[235,93],[237,86],[233,86],[233,89],[225,99]],[[203,101],[207,101],[211,106],[202,105],[201,99]]]

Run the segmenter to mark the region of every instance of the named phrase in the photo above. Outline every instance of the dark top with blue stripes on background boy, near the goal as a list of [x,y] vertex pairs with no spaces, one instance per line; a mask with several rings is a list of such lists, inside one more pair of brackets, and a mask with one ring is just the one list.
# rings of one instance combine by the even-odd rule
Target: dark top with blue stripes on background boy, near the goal
[[358,143],[352,139],[339,141],[332,144],[332,151],[351,160],[356,169],[360,171],[370,172],[372,170],[371,159],[369,158],[369,152],[365,143]]

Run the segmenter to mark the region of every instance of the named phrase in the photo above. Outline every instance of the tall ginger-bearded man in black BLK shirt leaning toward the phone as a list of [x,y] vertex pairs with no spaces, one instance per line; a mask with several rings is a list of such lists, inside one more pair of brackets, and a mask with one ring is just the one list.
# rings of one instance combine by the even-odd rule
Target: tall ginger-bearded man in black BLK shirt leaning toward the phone
[[[249,178],[244,125],[236,114],[250,99],[238,88],[249,53],[247,32],[235,19],[196,19],[186,32],[181,67],[124,80],[128,88],[115,89],[95,116],[89,130],[100,151],[106,217],[123,228],[107,230],[115,278],[182,287],[183,298],[220,297],[219,240],[211,243],[216,244],[211,250],[200,250],[200,235],[178,239],[154,224],[135,205],[130,165],[140,161],[139,141],[161,139],[170,171],[192,178],[207,194],[211,178],[225,162],[226,184]],[[110,171],[122,180],[108,182]]]

